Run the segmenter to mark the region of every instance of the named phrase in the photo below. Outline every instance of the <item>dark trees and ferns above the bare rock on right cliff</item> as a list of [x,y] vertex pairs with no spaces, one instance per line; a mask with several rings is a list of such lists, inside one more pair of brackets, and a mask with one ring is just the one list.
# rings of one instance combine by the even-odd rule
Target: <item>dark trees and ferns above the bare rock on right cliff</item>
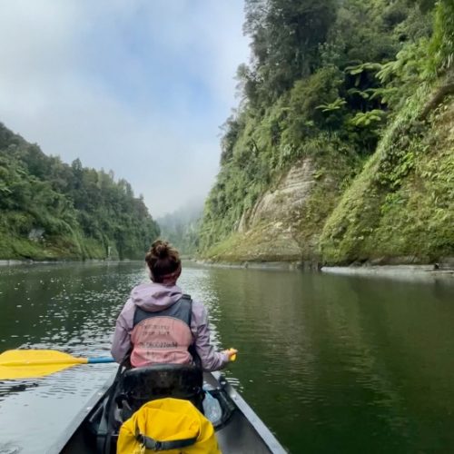
[[[238,69],[242,102],[224,124],[222,168],[202,219],[202,253],[236,232],[282,174],[308,158],[321,173],[329,170],[310,195],[312,214],[306,207],[302,215],[301,237],[313,242],[339,202],[339,189],[360,173],[400,113],[423,108],[430,87],[449,71],[453,9],[450,0],[246,0],[252,57]],[[421,84],[424,94],[411,102]],[[391,179],[408,174],[401,170],[408,153],[397,154],[382,172]],[[314,214],[315,204],[321,208]]]

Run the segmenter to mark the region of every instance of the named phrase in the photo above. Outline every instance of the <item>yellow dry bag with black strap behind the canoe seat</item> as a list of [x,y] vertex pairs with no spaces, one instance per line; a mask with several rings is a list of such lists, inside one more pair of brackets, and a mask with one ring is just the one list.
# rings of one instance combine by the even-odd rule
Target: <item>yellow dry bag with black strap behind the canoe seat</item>
[[123,422],[117,454],[221,454],[212,423],[189,400],[158,399]]

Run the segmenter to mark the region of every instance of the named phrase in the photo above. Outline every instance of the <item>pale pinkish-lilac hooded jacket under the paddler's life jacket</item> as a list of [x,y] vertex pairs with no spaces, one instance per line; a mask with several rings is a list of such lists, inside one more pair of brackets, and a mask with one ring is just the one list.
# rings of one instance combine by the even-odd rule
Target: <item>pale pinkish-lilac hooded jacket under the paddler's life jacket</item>
[[[123,307],[115,325],[112,356],[117,362],[122,362],[126,353],[131,349],[131,333],[136,307],[143,311],[158,312],[180,300],[183,291],[177,285],[164,285],[150,282],[133,288],[131,296]],[[208,314],[201,302],[192,301],[192,338],[195,350],[202,361],[202,369],[206,371],[220,370],[228,362],[225,353],[216,351],[210,344],[210,328]]]

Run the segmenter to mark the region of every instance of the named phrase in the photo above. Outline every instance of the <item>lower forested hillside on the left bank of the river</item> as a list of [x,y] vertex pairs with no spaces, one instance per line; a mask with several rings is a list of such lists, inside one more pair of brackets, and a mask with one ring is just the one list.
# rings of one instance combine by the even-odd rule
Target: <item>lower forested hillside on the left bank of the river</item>
[[143,259],[158,235],[129,183],[46,156],[0,123],[0,259]]

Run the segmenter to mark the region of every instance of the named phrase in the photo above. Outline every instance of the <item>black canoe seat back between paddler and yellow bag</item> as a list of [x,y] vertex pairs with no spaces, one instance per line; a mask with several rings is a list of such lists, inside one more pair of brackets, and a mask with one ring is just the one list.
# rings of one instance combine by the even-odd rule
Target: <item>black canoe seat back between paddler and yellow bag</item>
[[150,400],[173,397],[191,400],[202,409],[202,370],[181,364],[153,364],[143,368],[125,370],[116,401],[119,407],[138,410]]

